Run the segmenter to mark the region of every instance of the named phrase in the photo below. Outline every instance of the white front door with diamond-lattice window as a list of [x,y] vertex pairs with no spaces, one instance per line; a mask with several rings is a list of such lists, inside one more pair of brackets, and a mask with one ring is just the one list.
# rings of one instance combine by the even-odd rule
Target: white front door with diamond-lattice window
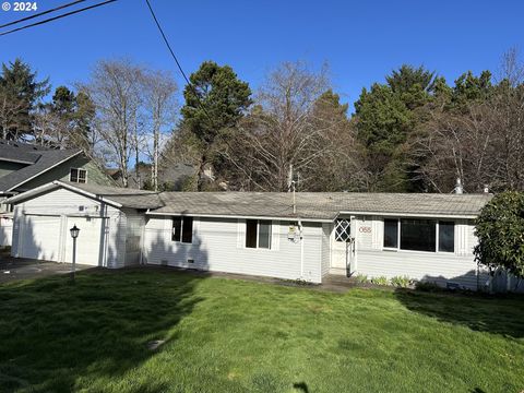
[[340,274],[350,275],[355,270],[355,241],[352,236],[352,218],[337,218],[331,239],[331,267]]

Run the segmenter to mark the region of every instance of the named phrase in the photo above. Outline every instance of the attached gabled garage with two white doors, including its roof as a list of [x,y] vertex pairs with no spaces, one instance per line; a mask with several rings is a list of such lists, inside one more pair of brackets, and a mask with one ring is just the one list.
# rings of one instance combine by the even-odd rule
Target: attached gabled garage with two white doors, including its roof
[[76,225],[76,263],[104,267],[140,263],[145,211],[158,206],[156,196],[150,191],[61,181],[13,196],[11,254],[71,263],[69,229]]

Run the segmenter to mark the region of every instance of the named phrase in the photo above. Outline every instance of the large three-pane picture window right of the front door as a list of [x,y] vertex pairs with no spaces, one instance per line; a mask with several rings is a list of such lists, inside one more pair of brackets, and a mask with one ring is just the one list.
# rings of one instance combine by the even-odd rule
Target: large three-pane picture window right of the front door
[[384,219],[384,248],[428,251],[455,251],[455,223],[436,219]]

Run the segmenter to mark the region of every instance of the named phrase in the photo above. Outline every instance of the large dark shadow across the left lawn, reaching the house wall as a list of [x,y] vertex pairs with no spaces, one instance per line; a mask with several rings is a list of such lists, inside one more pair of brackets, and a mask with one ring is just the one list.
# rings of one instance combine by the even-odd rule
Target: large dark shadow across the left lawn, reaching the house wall
[[[207,253],[194,240],[205,269]],[[171,246],[160,236],[152,245],[170,260],[186,257]],[[202,300],[194,287],[203,277],[93,270],[78,273],[74,285],[62,275],[0,286],[0,391],[99,391],[124,374],[127,391],[165,391],[154,376],[133,381],[127,372],[155,355],[150,342],[177,340],[174,327]]]

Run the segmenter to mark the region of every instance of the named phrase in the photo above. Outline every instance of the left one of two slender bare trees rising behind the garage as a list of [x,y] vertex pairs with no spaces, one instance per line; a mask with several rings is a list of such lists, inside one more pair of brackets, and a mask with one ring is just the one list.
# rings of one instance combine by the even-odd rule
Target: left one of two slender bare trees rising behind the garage
[[141,67],[128,60],[99,61],[84,86],[97,110],[98,150],[115,163],[128,187],[129,158],[136,146],[136,124],[142,105]]

